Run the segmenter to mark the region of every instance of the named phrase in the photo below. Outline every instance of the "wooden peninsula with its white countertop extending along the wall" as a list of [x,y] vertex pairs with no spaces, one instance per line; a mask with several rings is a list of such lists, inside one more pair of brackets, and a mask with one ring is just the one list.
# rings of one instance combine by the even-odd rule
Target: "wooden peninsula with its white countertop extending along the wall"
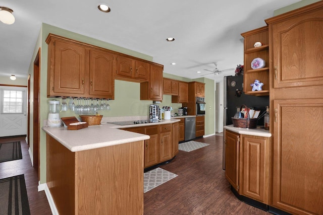
[[[80,130],[43,127],[46,184],[59,214],[143,214],[144,141],[149,136],[118,128],[178,128],[178,121],[106,123]],[[178,137],[178,129],[172,132]]]

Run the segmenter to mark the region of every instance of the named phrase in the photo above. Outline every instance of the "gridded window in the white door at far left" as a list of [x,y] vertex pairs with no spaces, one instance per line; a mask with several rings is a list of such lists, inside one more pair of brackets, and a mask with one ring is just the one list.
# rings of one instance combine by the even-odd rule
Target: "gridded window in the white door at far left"
[[23,90],[1,90],[1,113],[23,113],[24,91]]

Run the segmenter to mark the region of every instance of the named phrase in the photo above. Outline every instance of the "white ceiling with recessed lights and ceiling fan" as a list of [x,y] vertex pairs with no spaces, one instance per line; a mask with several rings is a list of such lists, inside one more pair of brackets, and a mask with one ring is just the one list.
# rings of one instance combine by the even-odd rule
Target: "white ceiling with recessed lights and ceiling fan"
[[[0,6],[12,9],[16,22],[0,22],[0,76],[27,78],[41,23],[46,23],[152,56],[164,73],[221,82],[243,64],[240,34],[264,26],[274,10],[298,1],[2,0]],[[98,11],[101,3],[111,12]],[[167,42],[168,37],[175,41]],[[206,75],[213,62],[220,70],[234,69]]]

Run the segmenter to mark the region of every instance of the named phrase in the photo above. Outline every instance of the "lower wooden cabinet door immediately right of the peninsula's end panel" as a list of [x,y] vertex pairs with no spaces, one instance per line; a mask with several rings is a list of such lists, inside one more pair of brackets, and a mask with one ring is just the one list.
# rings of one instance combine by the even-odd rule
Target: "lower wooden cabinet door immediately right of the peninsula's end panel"
[[145,168],[158,163],[158,134],[150,135],[145,140]]

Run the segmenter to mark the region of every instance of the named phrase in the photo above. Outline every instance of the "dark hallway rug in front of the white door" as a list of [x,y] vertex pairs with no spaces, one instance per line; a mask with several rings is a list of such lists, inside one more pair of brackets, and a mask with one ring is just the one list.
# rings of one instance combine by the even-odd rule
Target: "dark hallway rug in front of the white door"
[[0,144],[0,163],[22,159],[20,141]]

